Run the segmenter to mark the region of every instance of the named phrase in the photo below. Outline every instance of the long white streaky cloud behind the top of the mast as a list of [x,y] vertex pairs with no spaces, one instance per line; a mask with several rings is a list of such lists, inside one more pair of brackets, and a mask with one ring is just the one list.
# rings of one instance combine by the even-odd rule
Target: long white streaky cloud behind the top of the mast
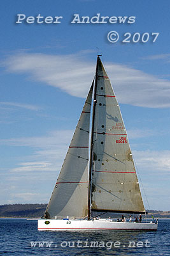
[[[31,79],[60,88],[75,97],[87,96],[95,70],[95,63],[84,60],[81,54],[22,52],[6,58],[3,66],[8,72],[28,74]],[[105,66],[120,103],[146,108],[170,107],[170,81],[127,65],[105,63]]]

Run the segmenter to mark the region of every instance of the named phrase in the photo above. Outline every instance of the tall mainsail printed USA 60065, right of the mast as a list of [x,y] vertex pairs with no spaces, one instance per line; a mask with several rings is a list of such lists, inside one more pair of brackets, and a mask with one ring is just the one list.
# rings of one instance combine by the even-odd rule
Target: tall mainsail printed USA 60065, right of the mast
[[145,212],[124,121],[99,57],[96,79],[91,209]]

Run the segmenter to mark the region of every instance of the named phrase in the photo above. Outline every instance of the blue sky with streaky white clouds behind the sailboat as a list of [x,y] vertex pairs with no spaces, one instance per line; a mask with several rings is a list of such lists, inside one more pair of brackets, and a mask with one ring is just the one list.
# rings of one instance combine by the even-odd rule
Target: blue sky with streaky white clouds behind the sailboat
[[[102,54],[145,207],[170,211],[170,2],[6,0],[0,5],[0,204],[48,202]],[[75,15],[80,23],[73,23]],[[47,22],[62,18],[47,23],[49,16]],[[81,23],[82,16],[89,23]],[[93,23],[95,16],[108,18]],[[124,23],[121,17],[127,17]],[[115,31],[119,40],[110,42],[108,34],[114,41]],[[155,42],[152,33],[159,33]],[[127,36],[129,42],[123,42]]]

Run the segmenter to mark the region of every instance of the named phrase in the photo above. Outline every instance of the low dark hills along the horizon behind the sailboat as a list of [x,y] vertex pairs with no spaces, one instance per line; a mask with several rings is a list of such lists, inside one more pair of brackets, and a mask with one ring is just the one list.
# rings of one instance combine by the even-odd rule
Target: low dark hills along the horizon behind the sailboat
[[[47,204],[5,204],[0,205],[0,217],[8,218],[39,218],[44,215]],[[151,214],[154,218],[170,218],[170,211],[148,211],[148,218]],[[100,214],[100,212],[97,212]],[[97,215],[96,214],[96,215]],[[102,214],[102,212],[101,212]],[[103,214],[103,217],[111,216],[111,218],[120,218],[121,214]],[[131,214],[132,215],[132,214]],[[124,214],[129,218],[129,214]]]

